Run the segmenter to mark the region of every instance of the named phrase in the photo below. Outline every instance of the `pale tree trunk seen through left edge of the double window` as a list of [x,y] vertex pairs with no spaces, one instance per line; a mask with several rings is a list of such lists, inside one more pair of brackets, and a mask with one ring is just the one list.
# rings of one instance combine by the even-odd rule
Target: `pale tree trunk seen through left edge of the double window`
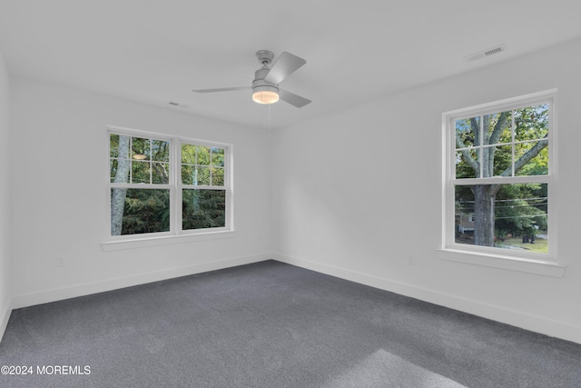
[[[127,183],[131,160],[129,159],[129,136],[119,135],[119,159],[114,183]],[[127,189],[113,188],[111,193],[111,235],[121,235],[123,226],[123,210]]]

